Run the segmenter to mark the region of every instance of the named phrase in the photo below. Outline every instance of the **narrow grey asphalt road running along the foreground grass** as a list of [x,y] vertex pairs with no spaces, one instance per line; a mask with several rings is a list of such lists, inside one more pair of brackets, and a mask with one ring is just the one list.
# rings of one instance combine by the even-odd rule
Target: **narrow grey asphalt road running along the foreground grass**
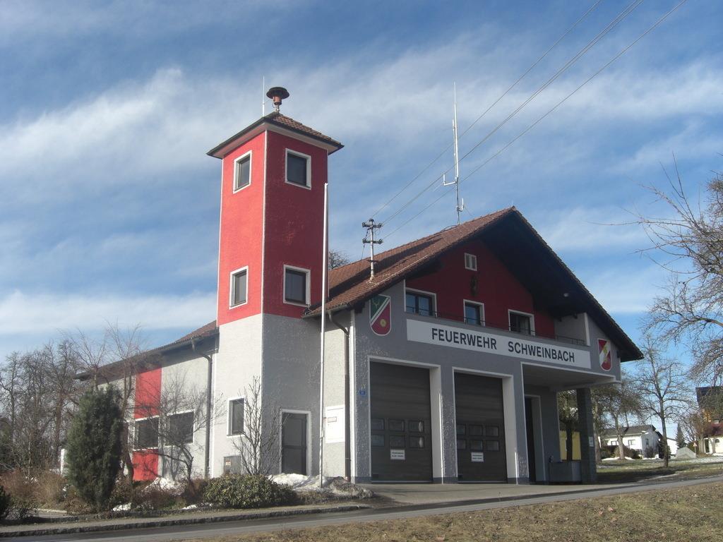
[[475,512],[495,508],[523,506],[525,504],[546,504],[549,502],[573,501],[588,497],[635,493],[636,491],[654,491],[683,486],[695,486],[703,483],[723,481],[723,476],[701,478],[675,482],[643,483],[639,485],[603,489],[598,491],[581,491],[575,494],[536,496],[529,499],[517,499],[505,502],[482,503],[450,503],[420,506],[395,507],[388,509],[364,509],[354,512],[296,516],[289,518],[275,517],[268,520],[246,520],[234,522],[208,523],[202,525],[176,525],[173,527],[148,528],[136,530],[111,531],[106,533],[77,533],[69,535],[48,535],[40,537],[8,538],[10,541],[123,541],[123,542],[166,542],[187,540],[189,538],[210,538],[223,535],[239,535],[243,533],[262,533],[273,530],[301,529],[320,525],[339,525],[353,522],[370,522],[380,520],[396,520],[406,517],[450,514],[453,512]]

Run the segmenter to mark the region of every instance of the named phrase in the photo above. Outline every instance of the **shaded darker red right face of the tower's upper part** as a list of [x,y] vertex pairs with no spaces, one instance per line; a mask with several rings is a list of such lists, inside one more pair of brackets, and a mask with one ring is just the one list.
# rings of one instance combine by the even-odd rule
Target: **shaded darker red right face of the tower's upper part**
[[[311,189],[286,183],[286,149],[311,156]],[[311,270],[312,304],[321,301],[325,149],[268,132],[266,163],[265,314],[300,317],[304,307],[283,302],[283,266]]]

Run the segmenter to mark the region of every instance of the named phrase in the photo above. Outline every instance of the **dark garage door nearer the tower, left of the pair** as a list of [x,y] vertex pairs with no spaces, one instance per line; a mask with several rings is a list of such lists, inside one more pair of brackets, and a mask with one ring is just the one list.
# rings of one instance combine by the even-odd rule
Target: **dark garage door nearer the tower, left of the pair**
[[371,453],[374,481],[431,481],[429,370],[372,363]]

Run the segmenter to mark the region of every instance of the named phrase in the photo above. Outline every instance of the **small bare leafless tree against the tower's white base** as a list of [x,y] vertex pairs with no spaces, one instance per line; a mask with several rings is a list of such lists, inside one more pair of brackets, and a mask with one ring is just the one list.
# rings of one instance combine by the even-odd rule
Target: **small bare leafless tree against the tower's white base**
[[281,462],[281,410],[270,400],[262,403],[261,379],[244,389],[244,432],[234,439],[241,468],[247,474],[268,475]]

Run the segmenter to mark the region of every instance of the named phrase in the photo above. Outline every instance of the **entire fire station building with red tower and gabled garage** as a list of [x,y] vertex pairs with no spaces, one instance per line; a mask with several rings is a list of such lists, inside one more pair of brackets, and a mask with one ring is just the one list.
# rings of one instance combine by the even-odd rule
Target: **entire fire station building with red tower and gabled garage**
[[[282,421],[280,472],[318,473],[322,452],[325,476],[354,482],[593,481],[590,388],[641,352],[514,207],[376,254],[373,278],[368,260],[330,271],[320,408],[324,185],[342,147],[274,111],[208,152],[217,317],[153,350],[136,400],[184,374],[223,401],[193,431],[200,475],[238,468],[256,377]],[[556,394],[572,389],[582,460],[560,462]],[[168,476],[136,418],[136,476]]]

